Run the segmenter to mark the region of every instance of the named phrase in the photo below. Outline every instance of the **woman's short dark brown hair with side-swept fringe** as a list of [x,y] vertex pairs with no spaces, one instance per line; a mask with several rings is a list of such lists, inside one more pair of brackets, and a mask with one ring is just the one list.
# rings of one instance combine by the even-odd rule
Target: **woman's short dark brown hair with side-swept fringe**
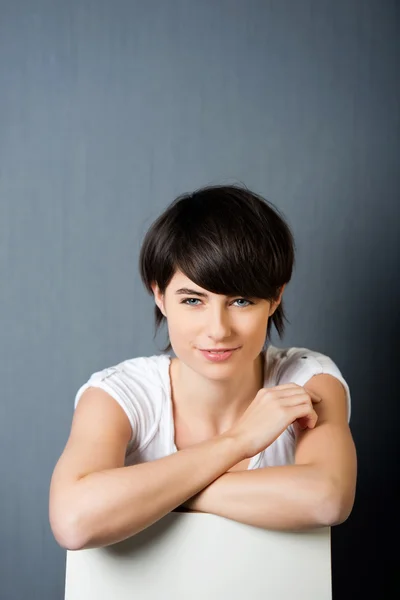
[[[289,225],[268,200],[238,185],[200,188],[178,196],[147,231],[139,256],[149,293],[161,293],[177,270],[200,287],[226,296],[274,301],[292,276],[295,243]],[[155,305],[155,334],[164,315]],[[284,333],[283,301],[268,321]],[[289,321],[288,321],[289,322]],[[168,340],[169,342],[169,340]],[[163,349],[167,352],[171,344]]]

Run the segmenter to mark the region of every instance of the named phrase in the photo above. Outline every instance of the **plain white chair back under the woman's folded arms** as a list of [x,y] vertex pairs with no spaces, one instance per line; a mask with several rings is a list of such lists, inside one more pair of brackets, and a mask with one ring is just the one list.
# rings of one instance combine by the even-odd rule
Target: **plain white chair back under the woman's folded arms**
[[330,534],[172,512],[124,542],[68,551],[65,600],[331,600]]

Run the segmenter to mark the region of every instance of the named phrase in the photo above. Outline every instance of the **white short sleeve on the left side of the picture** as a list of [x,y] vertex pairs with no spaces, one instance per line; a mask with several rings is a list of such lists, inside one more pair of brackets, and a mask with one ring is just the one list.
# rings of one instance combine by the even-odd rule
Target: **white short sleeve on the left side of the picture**
[[93,373],[78,389],[74,409],[89,387],[107,392],[125,412],[132,429],[128,453],[147,443],[158,426],[160,403],[155,402],[155,386],[145,359],[132,359]]

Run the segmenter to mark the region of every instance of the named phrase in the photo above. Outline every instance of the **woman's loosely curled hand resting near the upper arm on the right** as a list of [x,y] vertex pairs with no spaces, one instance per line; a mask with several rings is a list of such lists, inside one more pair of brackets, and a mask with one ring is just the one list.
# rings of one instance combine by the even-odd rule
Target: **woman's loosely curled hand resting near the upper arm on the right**
[[302,429],[313,429],[318,419],[313,403],[320,401],[317,394],[296,383],[262,388],[226,434],[243,445],[244,458],[251,458],[272,444],[294,421]]

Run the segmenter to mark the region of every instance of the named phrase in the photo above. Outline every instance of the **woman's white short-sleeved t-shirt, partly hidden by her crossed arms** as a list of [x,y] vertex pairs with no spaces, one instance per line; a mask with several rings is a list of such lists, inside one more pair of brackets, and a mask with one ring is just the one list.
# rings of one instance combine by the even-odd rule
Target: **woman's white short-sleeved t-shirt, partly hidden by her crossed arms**
[[[272,345],[268,346],[264,354],[266,362],[263,387],[284,383],[303,386],[313,375],[333,375],[345,388],[350,421],[349,386],[331,358],[307,348],[277,348]],[[125,360],[93,373],[76,394],[75,408],[88,387],[101,388],[123,408],[132,427],[125,466],[177,452],[174,443],[170,361],[168,354]],[[253,456],[248,469],[293,464],[295,443],[295,431],[293,425],[290,425],[268,448]]]

